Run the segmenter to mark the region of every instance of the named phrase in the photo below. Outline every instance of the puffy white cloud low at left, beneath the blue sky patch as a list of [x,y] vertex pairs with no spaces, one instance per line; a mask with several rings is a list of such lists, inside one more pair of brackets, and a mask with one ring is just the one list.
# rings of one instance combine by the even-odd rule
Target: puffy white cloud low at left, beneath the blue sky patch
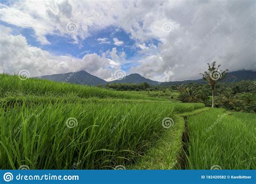
[[82,59],[72,56],[56,56],[41,48],[28,45],[21,34],[11,35],[11,29],[0,26],[0,69],[6,73],[18,73],[26,69],[31,76],[67,73],[86,70],[102,79],[108,79],[120,69],[119,63],[97,54],[86,54]]

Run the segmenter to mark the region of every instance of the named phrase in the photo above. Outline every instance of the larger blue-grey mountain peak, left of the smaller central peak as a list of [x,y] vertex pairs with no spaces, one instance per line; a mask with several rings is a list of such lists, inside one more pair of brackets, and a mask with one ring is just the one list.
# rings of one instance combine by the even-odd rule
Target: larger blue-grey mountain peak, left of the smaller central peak
[[98,86],[99,84],[106,84],[106,81],[100,79],[97,76],[91,75],[84,70],[80,72],[70,72],[65,74],[54,74],[54,75],[44,75],[36,77],[38,79],[48,79],[51,81],[57,82],[69,82],[69,83],[76,83],[76,84],[83,84],[87,86]]

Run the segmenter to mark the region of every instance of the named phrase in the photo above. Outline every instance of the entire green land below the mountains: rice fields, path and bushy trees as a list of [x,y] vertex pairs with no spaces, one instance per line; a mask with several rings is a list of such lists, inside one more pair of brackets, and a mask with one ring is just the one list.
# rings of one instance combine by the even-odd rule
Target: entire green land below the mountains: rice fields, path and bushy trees
[[[216,84],[215,107],[255,111],[253,81],[226,85]],[[256,168],[255,114],[205,108],[206,84],[150,89],[0,75],[1,169]]]

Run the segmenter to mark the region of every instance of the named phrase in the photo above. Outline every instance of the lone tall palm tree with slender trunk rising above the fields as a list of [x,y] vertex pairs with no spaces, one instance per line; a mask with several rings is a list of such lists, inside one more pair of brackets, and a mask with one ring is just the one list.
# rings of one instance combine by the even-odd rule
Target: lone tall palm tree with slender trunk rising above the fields
[[214,89],[215,85],[218,81],[225,79],[225,75],[228,72],[226,69],[224,72],[219,69],[220,65],[216,65],[216,61],[213,61],[212,64],[207,63],[208,70],[205,71],[203,74],[203,79],[209,82],[210,86],[212,87],[212,108],[214,107]]

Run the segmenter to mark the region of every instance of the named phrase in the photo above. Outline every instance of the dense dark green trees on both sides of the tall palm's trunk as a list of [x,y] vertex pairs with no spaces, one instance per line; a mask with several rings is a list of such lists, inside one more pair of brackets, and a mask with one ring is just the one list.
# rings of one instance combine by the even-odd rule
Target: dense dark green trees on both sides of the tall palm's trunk
[[[211,106],[211,92],[205,84],[190,84],[179,88],[179,101],[203,102]],[[215,107],[232,111],[256,112],[256,85],[254,81],[233,84],[220,83],[215,86]]]

